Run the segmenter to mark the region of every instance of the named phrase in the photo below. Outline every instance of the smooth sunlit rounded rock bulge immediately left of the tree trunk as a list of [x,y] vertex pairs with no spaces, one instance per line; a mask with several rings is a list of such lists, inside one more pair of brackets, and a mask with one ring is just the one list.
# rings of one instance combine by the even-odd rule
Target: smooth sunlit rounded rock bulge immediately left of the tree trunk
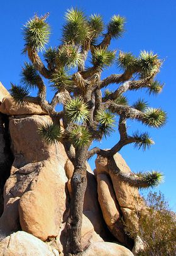
[[[36,166],[35,166],[36,168]],[[65,182],[62,167],[55,161],[44,161],[28,192],[19,201],[19,220],[22,230],[45,241],[57,237],[63,221]]]

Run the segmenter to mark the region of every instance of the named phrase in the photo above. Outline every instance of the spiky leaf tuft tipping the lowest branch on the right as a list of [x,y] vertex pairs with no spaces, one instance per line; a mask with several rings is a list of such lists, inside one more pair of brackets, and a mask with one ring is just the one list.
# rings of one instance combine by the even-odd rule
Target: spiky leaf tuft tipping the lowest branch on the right
[[141,172],[136,174],[141,180],[147,182],[147,187],[155,187],[163,182],[163,174],[153,170],[142,174]]

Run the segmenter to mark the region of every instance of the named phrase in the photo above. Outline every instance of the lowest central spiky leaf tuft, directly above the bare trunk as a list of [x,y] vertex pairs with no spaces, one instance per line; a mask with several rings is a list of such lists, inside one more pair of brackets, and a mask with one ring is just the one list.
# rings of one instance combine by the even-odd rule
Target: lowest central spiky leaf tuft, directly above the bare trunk
[[89,145],[91,142],[91,134],[85,126],[78,125],[70,131],[70,140],[74,147],[82,147],[84,145]]

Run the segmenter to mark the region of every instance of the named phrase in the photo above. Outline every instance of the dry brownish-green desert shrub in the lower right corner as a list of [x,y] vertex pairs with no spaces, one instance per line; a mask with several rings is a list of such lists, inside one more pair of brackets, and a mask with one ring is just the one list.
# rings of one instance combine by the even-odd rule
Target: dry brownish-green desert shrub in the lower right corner
[[176,214],[170,210],[161,192],[149,192],[145,201],[146,211],[136,211],[131,215],[132,220],[136,214],[139,217],[138,230],[136,231],[130,223],[126,225],[126,232],[133,238],[139,235],[145,245],[145,250],[137,255],[175,256]]

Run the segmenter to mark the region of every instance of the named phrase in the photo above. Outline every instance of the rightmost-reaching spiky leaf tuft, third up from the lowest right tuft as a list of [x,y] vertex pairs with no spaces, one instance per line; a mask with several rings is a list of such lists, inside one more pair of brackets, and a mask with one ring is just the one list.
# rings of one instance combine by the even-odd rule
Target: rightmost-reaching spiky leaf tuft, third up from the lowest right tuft
[[145,111],[143,123],[151,127],[160,128],[165,125],[167,114],[160,108],[148,108]]

